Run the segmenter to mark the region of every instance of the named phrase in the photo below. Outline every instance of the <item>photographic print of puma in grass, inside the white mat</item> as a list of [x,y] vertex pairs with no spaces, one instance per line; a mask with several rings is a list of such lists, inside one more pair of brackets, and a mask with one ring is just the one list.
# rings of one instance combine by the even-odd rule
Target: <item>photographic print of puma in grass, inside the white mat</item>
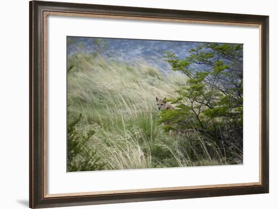
[[67,36],[67,171],[243,163],[243,45]]

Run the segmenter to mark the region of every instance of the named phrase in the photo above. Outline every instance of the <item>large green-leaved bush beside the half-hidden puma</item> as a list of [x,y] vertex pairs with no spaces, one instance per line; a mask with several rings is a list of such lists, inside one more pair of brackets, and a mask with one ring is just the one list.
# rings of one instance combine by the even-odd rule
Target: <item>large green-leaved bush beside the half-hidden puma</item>
[[189,77],[176,91],[179,97],[169,100],[176,108],[161,112],[165,130],[195,130],[218,146],[224,136],[242,144],[242,45],[204,43],[189,52],[184,59],[164,56],[173,71]]

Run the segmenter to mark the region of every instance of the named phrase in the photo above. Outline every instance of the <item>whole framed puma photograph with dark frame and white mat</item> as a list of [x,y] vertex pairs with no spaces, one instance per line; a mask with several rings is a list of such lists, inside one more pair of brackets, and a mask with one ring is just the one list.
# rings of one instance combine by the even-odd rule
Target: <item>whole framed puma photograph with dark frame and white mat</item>
[[268,18],[30,2],[30,207],[268,193]]

